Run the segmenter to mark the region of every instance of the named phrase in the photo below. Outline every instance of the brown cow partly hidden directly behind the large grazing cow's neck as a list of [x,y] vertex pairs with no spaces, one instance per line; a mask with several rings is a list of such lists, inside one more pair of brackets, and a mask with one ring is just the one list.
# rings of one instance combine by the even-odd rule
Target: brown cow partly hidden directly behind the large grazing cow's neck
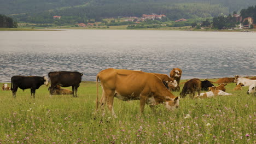
[[178,83],[176,80],[172,79],[171,77],[165,74],[156,74],[156,73],[152,73],[152,74],[158,76],[162,80],[162,83],[164,83],[165,87],[169,89],[170,92],[177,89]]

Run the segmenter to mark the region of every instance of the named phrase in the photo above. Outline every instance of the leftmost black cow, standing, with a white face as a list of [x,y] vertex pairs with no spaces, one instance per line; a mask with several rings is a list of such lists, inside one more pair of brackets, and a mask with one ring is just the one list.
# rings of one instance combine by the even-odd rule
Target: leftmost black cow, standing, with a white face
[[13,91],[13,98],[16,98],[16,92],[18,88],[24,89],[30,88],[31,97],[36,93],[36,89],[40,86],[48,86],[48,79],[45,76],[13,76],[11,77],[11,91]]

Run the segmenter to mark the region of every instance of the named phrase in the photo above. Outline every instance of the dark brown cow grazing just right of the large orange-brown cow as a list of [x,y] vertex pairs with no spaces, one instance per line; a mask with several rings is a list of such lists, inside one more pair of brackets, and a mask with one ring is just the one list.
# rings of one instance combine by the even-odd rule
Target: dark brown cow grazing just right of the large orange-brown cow
[[185,82],[184,87],[182,88],[182,92],[179,94],[182,98],[186,97],[189,94],[190,98],[195,97],[195,92],[200,95],[201,92],[201,81],[199,79],[191,79]]

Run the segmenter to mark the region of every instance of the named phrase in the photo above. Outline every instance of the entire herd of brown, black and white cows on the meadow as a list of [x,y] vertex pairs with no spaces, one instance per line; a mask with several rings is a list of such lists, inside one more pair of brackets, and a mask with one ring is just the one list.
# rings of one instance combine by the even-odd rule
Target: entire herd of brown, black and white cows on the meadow
[[[72,94],[77,97],[78,87],[82,81],[83,73],[77,71],[54,71],[45,76],[13,76],[11,77],[11,86],[3,84],[2,90],[13,92],[13,98],[16,97],[18,88],[31,89],[31,97],[35,97],[36,89],[40,86],[48,86],[50,95]],[[125,70],[125,69],[104,69],[96,76],[97,99],[96,109],[100,106],[104,109],[107,103],[109,111],[116,117],[113,109],[114,97],[123,101],[139,100],[140,112],[144,110],[145,104],[148,104],[153,111],[155,105],[164,104],[168,110],[179,107],[179,97],[174,96],[172,91],[180,91],[180,80],[182,70],[173,68],[170,77],[164,74],[146,73],[141,70]],[[98,82],[101,82],[102,97],[98,100]],[[247,94],[254,94],[256,80],[255,78],[247,79],[240,76],[224,77],[216,82],[199,79],[191,79],[184,83],[181,98],[189,94],[190,98],[210,98],[216,95],[231,95],[225,92],[226,83],[235,82],[237,86],[235,91],[241,90],[242,86],[249,86]],[[218,83],[216,87],[212,83]],[[72,87],[72,91],[61,87]],[[208,91],[201,93],[201,91]],[[197,95],[196,95],[197,93]]]

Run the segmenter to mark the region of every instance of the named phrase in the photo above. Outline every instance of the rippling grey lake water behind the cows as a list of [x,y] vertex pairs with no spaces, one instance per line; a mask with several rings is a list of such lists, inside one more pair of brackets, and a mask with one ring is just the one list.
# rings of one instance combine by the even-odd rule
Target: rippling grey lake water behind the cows
[[256,75],[256,33],[65,30],[0,32],[0,82],[14,75],[83,72],[95,81],[106,68],[141,69],[182,79]]

